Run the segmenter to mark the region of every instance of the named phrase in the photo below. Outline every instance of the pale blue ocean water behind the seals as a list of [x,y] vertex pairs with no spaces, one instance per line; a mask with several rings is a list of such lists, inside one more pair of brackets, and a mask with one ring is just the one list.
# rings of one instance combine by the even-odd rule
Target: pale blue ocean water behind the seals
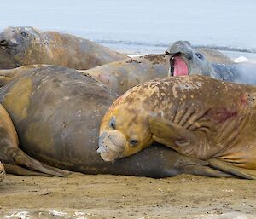
[[256,61],[253,0],[2,1],[0,31],[34,26],[67,32],[129,54],[163,53],[177,40]]

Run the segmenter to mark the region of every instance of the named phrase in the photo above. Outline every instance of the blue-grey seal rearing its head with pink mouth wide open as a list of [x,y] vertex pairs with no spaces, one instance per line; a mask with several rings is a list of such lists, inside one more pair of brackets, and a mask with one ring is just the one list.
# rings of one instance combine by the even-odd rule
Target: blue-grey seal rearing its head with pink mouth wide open
[[223,81],[256,84],[256,65],[253,63],[224,64],[208,61],[191,48],[188,41],[177,41],[166,49],[170,57],[170,76],[200,74]]

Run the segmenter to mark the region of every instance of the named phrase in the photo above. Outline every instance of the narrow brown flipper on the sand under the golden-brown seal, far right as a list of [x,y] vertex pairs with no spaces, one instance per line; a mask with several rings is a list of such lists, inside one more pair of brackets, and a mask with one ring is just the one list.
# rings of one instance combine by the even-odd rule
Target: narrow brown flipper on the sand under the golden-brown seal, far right
[[226,173],[241,177],[243,179],[256,180],[256,176],[247,174],[246,169],[236,167],[232,164],[229,164],[229,163],[219,160],[217,158],[211,158],[207,161],[208,161],[209,165],[214,169],[224,171]]

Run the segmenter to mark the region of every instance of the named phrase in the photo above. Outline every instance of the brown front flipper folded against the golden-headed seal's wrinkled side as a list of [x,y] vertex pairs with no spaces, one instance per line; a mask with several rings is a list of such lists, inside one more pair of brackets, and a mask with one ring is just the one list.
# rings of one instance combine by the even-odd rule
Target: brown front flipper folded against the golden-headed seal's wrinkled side
[[154,141],[172,147],[178,152],[181,152],[181,148],[196,145],[196,142],[199,141],[199,137],[194,131],[187,130],[165,118],[149,116],[148,123]]

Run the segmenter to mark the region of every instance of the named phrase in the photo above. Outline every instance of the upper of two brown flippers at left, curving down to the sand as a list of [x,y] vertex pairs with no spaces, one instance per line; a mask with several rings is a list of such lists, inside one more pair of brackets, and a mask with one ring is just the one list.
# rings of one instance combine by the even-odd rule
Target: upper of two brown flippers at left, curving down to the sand
[[20,166],[24,166],[28,168],[29,170],[34,170],[38,172],[45,173],[47,175],[51,176],[61,176],[65,177],[71,174],[70,171],[67,170],[61,170],[55,167],[51,167],[49,165],[43,164],[39,162],[38,160],[29,157],[26,153],[22,152],[19,148],[14,149],[15,152],[13,154],[15,164],[18,164]]

